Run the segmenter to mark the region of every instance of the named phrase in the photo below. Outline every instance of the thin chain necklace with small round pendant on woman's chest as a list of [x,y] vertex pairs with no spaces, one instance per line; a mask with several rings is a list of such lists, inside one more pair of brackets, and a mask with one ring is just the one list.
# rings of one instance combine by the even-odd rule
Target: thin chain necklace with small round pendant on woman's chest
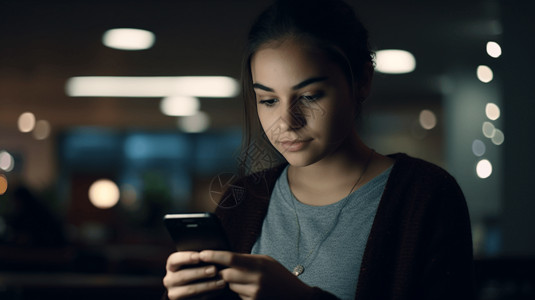
[[[349,190],[349,193],[347,194],[347,196],[342,200],[344,201],[340,207],[340,209],[338,210],[338,212],[336,213],[336,218],[334,218],[334,221],[333,223],[331,224],[331,226],[329,226],[329,230],[327,230],[327,232],[325,232],[323,234],[323,236],[319,239],[319,242],[316,243],[316,245],[314,247],[312,247],[312,249],[307,253],[307,255],[305,256],[305,258],[303,259],[302,263],[298,263],[295,268],[293,269],[293,274],[295,276],[299,276],[301,274],[303,274],[303,272],[305,272],[305,263],[307,262],[308,258],[310,257],[310,255],[312,255],[312,253],[314,253],[317,249],[319,249],[321,247],[321,245],[323,244],[323,242],[327,239],[327,237],[331,234],[331,232],[334,230],[334,228],[336,228],[336,225],[338,224],[338,221],[339,221],[339,217],[340,217],[340,214],[342,213],[342,210],[344,210],[344,208],[346,207],[347,203],[349,202],[349,195],[351,195],[351,192],[353,192],[353,190],[355,189],[355,187],[357,187],[357,185],[359,184],[360,180],[362,179],[362,177],[364,176],[364,173],[366,173],[366,170],[368,170],[368,165],[370,164],[370,161],[372,159],[372,156],[373,156],[373,153],[375,151],[372,149],[370,151],[370,154],[368,155],[368,158],[366,160],[366,164],[364,165],[364,169],[362,170],[362,173],[360,173],[360,176],[359,178],[357,179],[357,181],[355,182],[355,184],[351,187],[351,189]],[[299,242],[301,240],[301,225],[299,224],[299,216],[297,215],[297,209],[295,207],[295,202],[292,201],[293,203],[293,208],[294,208],[294,214],[295,214],[295,221],[297,223],[297,260],[299,261]]]

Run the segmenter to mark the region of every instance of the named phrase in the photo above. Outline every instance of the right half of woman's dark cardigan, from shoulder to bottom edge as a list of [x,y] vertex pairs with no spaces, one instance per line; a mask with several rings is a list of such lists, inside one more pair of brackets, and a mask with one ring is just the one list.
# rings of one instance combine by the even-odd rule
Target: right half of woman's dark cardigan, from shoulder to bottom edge
[[393,157],[357,299],[474,299],[470,220],[459,185],[438,166]]

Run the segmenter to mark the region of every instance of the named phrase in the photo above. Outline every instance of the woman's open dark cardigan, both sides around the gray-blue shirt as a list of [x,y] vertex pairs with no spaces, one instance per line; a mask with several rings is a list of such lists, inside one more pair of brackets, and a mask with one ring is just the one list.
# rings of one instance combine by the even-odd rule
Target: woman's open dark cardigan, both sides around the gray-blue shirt
[[[470,220],[455,179],[405,154],[395,159],[364,251],[356,299],[474,299]],[[226,191],[216,214],[236,252],[250,253],[285,165]],[[313,299],[336,299],[315,288]]]

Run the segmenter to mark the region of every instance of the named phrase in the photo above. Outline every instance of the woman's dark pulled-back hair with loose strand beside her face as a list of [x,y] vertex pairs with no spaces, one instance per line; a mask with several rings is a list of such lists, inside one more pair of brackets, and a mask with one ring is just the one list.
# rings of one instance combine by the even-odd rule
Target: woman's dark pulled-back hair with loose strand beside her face
[[[242,62],[245,112],[242,175],[272,167],[282,160],[263,133],[256,113],[251,58],[262,46],[290,38],[323,50],[343,70],[353,91],[355,82],[369,80],[364,73],[365,66],[373,61],[368,32],[348,4],[341,0],[278,0],[269,6],[249,31]],[[359,112],[362,100],[355,99]]]

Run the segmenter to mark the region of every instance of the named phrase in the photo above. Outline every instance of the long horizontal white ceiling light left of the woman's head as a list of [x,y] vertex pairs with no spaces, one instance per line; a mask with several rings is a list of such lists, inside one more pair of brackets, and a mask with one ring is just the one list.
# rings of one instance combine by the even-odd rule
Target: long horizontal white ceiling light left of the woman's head
[[227,98],[238,95],[239,84],[226,76],[80,76],[69,78],[65,90],[71,97]]

